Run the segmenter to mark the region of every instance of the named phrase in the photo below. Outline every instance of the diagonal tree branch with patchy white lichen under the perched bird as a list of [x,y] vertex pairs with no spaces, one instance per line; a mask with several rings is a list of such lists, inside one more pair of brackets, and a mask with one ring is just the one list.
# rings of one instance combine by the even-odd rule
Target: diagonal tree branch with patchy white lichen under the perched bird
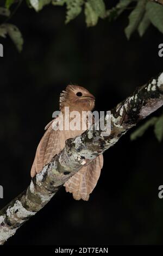
[[[82,168],[114,145],[124,133],[163,105],[163,72],[137,88],[111,111],[111,133],[87,130],[66,141],[65,148],[37,174],[18,197],[0,211],[0,244],[43,208],[59,188]],[[105,117],[105,121],[108,115]]]

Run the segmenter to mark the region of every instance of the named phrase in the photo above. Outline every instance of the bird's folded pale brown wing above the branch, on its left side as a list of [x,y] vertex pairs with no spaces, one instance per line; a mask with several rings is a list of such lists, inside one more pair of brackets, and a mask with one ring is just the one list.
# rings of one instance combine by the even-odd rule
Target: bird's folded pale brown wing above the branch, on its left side
[[53,130],[52,123],[53,120],[45,127],[46,132],[37,147],[33,166],[30,171],[32,177],[41,172],[43,166],[49,163],[64,148],[62,133],[60,130]]

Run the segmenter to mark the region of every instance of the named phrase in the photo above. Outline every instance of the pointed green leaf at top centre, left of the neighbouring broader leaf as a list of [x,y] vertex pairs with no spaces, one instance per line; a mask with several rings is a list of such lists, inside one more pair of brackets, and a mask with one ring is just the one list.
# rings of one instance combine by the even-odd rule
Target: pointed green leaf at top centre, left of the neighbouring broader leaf
[[82,11],[84,0],[67,0],[66,23],[76,18]]

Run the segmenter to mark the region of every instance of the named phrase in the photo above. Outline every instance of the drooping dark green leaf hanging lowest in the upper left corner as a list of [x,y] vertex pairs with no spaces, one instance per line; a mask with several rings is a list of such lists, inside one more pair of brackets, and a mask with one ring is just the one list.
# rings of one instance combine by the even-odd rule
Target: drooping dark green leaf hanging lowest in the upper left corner
[[5,23],[4,26],[6,27],[8,35],[14,42],[17,50],[21,52],[23,47],[23,38],[20,30],[15,25],[9,23]]

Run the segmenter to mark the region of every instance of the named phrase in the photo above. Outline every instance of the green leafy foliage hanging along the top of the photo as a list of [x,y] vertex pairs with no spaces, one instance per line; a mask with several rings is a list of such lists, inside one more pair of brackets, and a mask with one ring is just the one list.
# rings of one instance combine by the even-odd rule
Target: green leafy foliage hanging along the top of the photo
[[[10,20],[21,3],[22,0],[5,0],[4,5],[0,7],[0,17],[5,17],[4,22],[0,24],[0,36],[9,35],[18,51],[22,50],[23,45],[21,32],[7,21]],[[163,33],[163,6],[152,2],[152,0],[120,0],[111,9],[106,9],[106,0],[26,0],[26,3],[36,12],[49,4],[51,6],[65,5],[66,24],[84,11],[87,27],[95,26],[99,19],[113,21],[123,11],[130,10],[128,26],[124,29],[128,39],[135,31],[142,36],[151,24]]]

